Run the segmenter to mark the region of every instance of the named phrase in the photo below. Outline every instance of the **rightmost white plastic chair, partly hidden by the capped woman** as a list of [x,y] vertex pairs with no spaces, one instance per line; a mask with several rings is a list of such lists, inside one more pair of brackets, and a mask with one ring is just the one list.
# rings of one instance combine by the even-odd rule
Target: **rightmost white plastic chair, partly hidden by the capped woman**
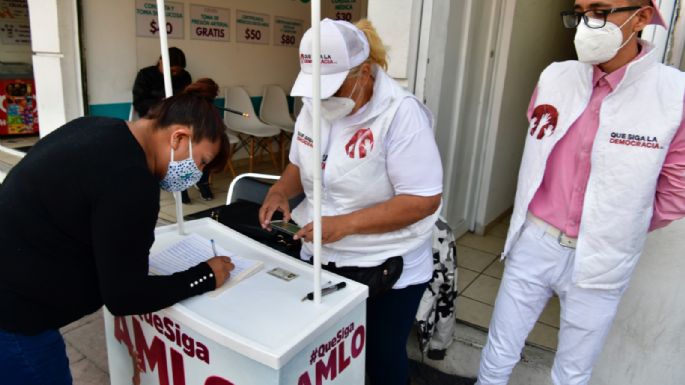
[[281,170],[285,168],[285,144],[290,142],[295,129],[295,121],[288,110],[288,98],[283,88],[277,85],[264,86],[262,105],[259,109],[259,117],[268,124],[281,129],[278,139],[281,151]]

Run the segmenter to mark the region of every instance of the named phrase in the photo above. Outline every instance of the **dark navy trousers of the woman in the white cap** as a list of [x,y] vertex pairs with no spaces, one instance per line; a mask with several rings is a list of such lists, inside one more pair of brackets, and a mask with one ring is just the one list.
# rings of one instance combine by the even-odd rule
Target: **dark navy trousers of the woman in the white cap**
[[407,339],[427,283],[392,289],[366,302],[366,374],[371,385],[407,385]]

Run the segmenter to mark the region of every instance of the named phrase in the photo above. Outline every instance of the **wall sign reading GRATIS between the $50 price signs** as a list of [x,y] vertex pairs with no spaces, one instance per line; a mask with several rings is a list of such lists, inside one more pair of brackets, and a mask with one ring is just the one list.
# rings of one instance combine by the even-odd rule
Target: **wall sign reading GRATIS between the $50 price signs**
[[190,38],[195,40],[230,41],[227,8],[190,5]]

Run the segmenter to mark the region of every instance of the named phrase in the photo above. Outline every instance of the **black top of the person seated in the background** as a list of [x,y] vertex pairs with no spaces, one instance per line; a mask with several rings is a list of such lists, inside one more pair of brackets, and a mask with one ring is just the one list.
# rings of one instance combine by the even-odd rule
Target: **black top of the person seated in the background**
[[[174,95],[183,91],[191,82],[192,78],[186,70],[172,76],[171,88],[174,90]],[[150,107],[159,103],[165,96],[164,76],[156,65],[138,71],[136,81],[133,83],[133,108],[140,117],[147,115]]]

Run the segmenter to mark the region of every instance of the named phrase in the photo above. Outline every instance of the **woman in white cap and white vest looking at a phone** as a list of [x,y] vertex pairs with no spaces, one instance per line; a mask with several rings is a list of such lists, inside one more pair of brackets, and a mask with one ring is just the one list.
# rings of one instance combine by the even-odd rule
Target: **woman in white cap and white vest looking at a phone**
[[[303,98],[290,161],[259,212],[283,213],[313,255],[312,33],[300,45],[292,96]],[[408,382],[406,342],[433,272],[431,234],[442,194],[432,115],[388,74],[369,21],[321,22],[322,261],[369,286],[366,368],[372,384]],[[304,192],[294,208],[288,199]]]

